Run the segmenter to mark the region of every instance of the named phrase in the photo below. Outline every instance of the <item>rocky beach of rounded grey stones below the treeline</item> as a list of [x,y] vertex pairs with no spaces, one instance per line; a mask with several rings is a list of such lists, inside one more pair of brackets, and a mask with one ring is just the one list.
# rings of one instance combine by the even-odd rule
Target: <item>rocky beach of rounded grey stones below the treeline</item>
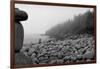
[[64,40],[23,46],[21,52],[31,57],[33,64],[62,64],[94,60],[94,38],[92,35],[70,36]]

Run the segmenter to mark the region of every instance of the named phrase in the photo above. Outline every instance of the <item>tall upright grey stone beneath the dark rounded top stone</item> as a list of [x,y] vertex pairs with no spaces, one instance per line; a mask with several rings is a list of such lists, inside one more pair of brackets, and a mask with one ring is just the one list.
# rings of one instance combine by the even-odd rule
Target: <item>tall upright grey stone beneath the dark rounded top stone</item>
[[15,22],[15,51],[21,50],[23,46],[24,29],[21,23]]

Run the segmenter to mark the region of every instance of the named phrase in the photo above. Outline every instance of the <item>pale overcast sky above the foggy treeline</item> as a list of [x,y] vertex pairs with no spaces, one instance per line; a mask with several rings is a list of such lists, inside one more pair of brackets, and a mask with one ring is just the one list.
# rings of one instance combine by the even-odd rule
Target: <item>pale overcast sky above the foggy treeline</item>
[[92,8],[58,7],[43,5],[15,4],[16,8],[28,13],[28,20],[22,21],[24,34],[44,34],[56,24],[72,19]]

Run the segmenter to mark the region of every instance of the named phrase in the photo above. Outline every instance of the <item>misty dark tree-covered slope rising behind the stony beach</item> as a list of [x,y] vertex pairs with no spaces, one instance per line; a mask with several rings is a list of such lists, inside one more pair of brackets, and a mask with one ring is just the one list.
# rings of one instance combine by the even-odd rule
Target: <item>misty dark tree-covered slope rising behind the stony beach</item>
[[51,29],[46,31],[46,35],[56,39],[64,39],[66,35],[76,34],[93,34],[94,31],[94,11],[87,11],[84,14],[74,16],[73,19],[69,19],[63,23],[57,24]]

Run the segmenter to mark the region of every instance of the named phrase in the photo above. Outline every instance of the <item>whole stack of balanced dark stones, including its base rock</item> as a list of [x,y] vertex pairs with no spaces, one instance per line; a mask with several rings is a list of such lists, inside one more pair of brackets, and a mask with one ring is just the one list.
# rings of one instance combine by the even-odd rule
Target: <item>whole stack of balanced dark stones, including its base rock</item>
[[23,46],[24,29],[20,21],[27,20],[28,15],[26,12],[15,8],[15,64],[31,64],[32,61],[29,57],[20,52]]

